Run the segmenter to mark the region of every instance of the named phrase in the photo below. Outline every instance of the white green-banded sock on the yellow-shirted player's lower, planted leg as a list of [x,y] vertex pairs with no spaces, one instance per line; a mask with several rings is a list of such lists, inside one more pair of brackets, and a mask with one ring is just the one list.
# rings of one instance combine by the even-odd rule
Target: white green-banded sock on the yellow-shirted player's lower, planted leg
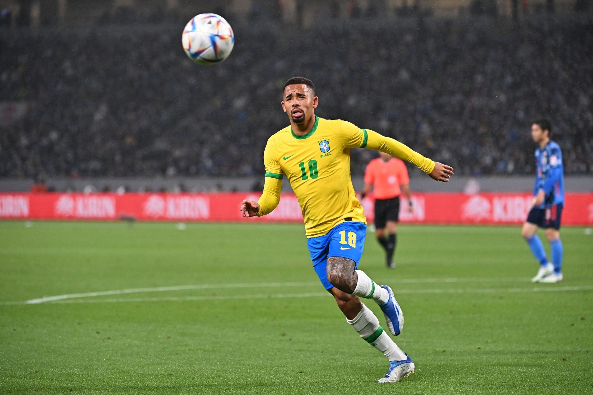
[[375,314],[364,304],[361,312],[353,320],[346,321],[367,343],[387,356],[389,362],[401,361],[407,358],[406,353],[400,350],[396,343],[391,340],[391,337],[387,335],[387,332],[379,325],[379,320],[375,317]]

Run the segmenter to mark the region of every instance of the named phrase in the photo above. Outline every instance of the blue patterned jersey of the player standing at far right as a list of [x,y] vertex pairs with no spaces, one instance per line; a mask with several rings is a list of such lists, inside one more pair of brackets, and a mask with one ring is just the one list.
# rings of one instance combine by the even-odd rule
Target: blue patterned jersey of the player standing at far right
[[546,192],[544,202],[536,208],[564,204],[564,166],[558,144],[550,141],[546,148],[535,149],[535,172],[533,195],[537,195],[540,189]]

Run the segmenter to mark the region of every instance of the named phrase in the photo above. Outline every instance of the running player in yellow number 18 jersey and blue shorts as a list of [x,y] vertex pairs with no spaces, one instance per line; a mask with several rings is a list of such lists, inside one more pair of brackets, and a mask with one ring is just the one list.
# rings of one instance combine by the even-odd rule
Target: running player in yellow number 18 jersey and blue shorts
[[266,182],[261,198],[243,200],[243,216],[269,214],[278,206],[282,174],[301,205],[307,245],[321,283],[336,299],[347,322],[390,361],[379,383],[393,383],[414,372],[412,358],[401,351],[360,298],[377,302],[387,327],[397,336],[404,317],[393,291],[379,286],[358,262],[366,237],[366,219],[350,179],[350,149],[369,148],[415,164],[437,181],[449,181],[453,169],[423,157],[394,139],[350,122],[315,116],[319,98],[313,82],[294,77],[283,88],[282,108],[290,126],[272,135],[264,150]]

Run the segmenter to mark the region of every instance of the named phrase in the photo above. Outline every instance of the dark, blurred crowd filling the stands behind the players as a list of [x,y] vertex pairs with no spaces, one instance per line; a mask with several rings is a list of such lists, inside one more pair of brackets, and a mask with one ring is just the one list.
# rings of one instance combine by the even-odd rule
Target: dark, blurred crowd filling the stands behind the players
[[[456,174],[530,174],[530,120],[549,117],[565,171],[593,173],[591,21],[419,18],[234,24],[235,49],[198,66],[181,28],[96,27],[0,35],[0,177],[263,174],[288,124],[283,81],[311,78],[317,114],[400,139]],[[355,150],[362,174],[368,150]]]

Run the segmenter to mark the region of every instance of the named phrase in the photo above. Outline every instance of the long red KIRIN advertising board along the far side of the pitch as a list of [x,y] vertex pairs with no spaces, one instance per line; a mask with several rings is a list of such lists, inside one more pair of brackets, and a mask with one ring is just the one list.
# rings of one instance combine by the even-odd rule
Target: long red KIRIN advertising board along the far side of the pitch
[[[114,221],[246,221],[239,212],[243,199],[258,193],[0,193],[0,219]],[[414,212],[402,202],[400,221],[423,224],[520,224],[531,205],[529,193],[415,193]],[[374,202],[362,200],[367,220]],[[249,221],[302,222],[294,194],[282,195],[278,208]],[[568,193],[563,225],[593,225],[593,193]]]

